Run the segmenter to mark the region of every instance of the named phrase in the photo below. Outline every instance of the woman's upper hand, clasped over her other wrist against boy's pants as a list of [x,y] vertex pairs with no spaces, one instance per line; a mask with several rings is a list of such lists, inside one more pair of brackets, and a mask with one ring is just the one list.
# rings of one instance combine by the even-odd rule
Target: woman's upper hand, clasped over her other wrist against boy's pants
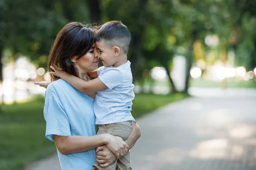
[[119,136],[113,136],[110,134],[107,135],[106,146],[116,155],[116,158],[119,159],[120,156],[125,155],[128,151],[129,146],[123,141]]

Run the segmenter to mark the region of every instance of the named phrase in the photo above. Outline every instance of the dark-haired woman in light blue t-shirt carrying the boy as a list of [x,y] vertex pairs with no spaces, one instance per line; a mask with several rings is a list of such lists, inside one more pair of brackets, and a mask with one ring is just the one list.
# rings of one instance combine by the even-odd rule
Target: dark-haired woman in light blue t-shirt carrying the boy
[[[94,36],[93,29],[76,22],[68,23],[55,39],[48,69],[52,71],[49,66],[58,65],[64,71],[90,81],[87,72],[98,67]],[[99,152],[96,160],[106,167],[116,159],[114,153],[127,152],[140,137],[140,129],[134,122],[132,133],[125,142],[110,134],[96,135],[95,93],[84,94],[53,75],[51,80],[44,105],[46,137],[56,144],[62,170],[91,170],[96,159],[94,148],[102,145],[97,151],[104,150],[105,154]]]

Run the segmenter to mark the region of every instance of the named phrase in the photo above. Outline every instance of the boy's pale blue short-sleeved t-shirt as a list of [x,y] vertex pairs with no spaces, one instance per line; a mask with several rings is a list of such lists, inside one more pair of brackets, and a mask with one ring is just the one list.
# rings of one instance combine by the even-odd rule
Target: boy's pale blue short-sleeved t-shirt
[[97,91],[94,103],[96,125],[134,120],[131,105],[134,99],[131,62],[119,67],[100,67],[99,79],[108,87]]

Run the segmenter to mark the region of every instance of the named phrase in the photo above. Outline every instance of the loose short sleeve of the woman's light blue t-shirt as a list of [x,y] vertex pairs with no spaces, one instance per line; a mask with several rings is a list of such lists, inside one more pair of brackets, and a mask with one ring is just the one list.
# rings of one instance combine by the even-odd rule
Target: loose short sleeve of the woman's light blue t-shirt
[[46,121],[45,136],[54,141],[52,135],[71,136],[70,122],[67,113],[64,111],[61,103],[49,96],[44,105],[44,119]]

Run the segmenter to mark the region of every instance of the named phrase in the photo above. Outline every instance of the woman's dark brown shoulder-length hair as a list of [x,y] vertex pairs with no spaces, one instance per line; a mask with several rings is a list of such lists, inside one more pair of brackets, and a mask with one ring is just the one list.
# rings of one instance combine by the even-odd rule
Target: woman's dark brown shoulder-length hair
[[[78,76],[71,57],[77,56],[76,59],[79,59],[91,49],[95,32],[92,28],[78,22],[71,22],[64,26],[52,45],[48,70],[53,71],[50,66],[58,65],[69,74]],[[59,79],[54,75],[50,76],[51,82]]]

